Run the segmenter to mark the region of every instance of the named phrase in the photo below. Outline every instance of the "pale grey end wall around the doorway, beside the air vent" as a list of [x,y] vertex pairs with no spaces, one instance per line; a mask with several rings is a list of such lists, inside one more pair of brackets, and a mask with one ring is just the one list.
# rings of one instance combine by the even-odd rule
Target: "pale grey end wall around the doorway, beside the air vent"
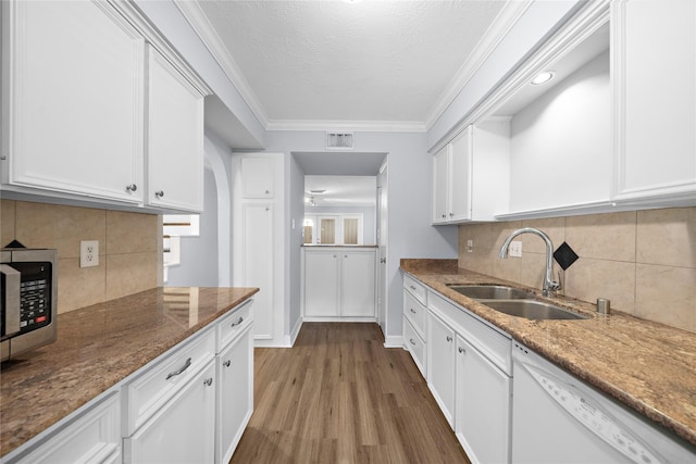
[[[402,258],[457,258],[457,227],[433,227],[431,222],[431,161],[426,151],[425,134],[356,133],[356,152],[388,153],[389,168],[389,251],[387,256],[387,317],[386,334],[389,338],[401,337],[402,278],[399,263]],[[284,152],[291,159],[293,151],[323,152],[324,133],[320,131],[269,131],[266,150]],[[291,163],[288,163],[291,164]],[[294,170],[293,167],[290,167]],[[375,173],[376,174],[376,173]],[[290,186],[286,189],[291,217],[301,220],[303,211],[303,176],[289,172]],[[301,204],[301,209],[297,205]],[[288,226],[289,229],[289,226]],[[287,250],[289,268],[286,281],[293,291],[299,291],[301,229],[296,227],[288,234]],[[299,298],[290,297],[289,326],[294,327],[294,304]]]

